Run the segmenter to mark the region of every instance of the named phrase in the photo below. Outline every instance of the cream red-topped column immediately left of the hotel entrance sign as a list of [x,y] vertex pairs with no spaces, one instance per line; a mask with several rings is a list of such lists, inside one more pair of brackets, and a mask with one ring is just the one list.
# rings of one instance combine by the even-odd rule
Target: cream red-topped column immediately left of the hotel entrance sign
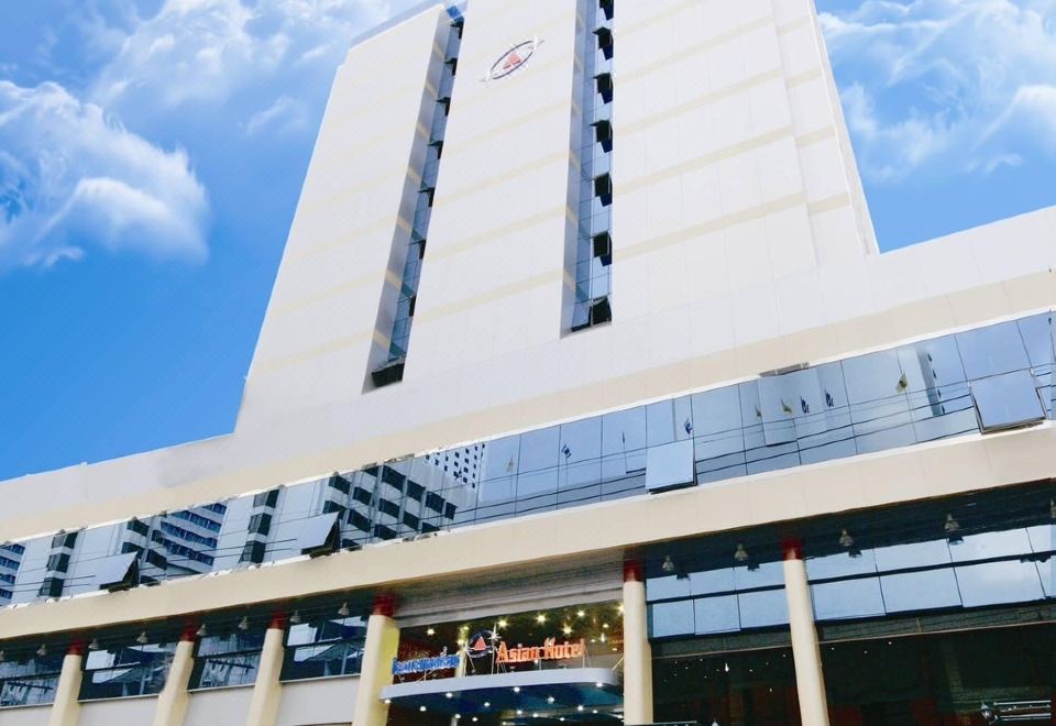
[[382,689],[393,682],[393,659],[399,648],[399,628],[393,619],[395,603],[392,596],[374,600],[374,612],[366,624],[366,644],[363,647],[363,668],[355,692],[353,726],[385,726],[388,705],[382,701]]

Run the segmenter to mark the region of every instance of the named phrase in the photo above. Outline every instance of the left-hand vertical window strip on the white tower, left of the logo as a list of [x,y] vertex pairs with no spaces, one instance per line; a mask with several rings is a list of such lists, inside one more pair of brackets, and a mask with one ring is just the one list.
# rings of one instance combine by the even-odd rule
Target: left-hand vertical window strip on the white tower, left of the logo
[[381,367],[372,373],[375,386],[384,386],[403,380],[404,363],[410,343],[410,329],[415,318],[415,304],[418,298],[418,283],[421,279],[421,266],[426,255],[429,222],[432,218],[432,202],[437,191],[437,178],[440,173],[440,160],[443,155],[443,138],[451,112],[451,90],[459,67],[459,50],[462,43],[462,29],[465,20],[459,6],[448,8],[451,16],[451,32],[444,48],[443,69],[437,91],[437,108],[429,130],[429,146],[418,187],[418,200],[408,240],[407,262],[404,265],[399,296],[396,302],[396,319],[393,323],[388,356]]

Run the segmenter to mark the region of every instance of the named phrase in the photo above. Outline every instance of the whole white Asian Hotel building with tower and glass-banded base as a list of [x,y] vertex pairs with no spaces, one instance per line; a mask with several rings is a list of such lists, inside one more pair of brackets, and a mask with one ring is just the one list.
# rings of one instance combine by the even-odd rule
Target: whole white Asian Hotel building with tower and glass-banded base
[[0,723],[1052,723],[1054,264],[878,251],[810,0],[417,8],[235,430],[0,484]]

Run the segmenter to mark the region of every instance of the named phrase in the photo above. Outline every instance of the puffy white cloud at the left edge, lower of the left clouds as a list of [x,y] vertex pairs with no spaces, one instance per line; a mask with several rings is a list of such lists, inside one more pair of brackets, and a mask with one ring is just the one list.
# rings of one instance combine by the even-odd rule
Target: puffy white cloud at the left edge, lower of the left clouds
[[76,260],[89,245],[200,261],[206,193],[165,151],[57,84],[0,81],[0,268]]

